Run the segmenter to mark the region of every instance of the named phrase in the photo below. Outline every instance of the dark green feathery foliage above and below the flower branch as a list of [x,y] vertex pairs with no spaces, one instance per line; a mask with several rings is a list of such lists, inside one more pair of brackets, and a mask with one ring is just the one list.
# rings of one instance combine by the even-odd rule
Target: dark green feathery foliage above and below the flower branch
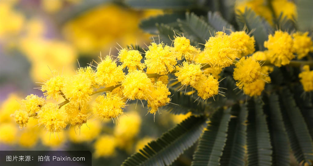
[[[127,1],[128,4],[138,8],[145,5],[151,7],[147,3],[136,4],[139,2],[142,1]],[[311,13],[309,8],[313,4],[311,5],[312,2],[308,0],[297,1],[299,9],[297,21],[280,14],[275,18],[273,26],[248,8],[243,13],[236,12],[234,18],[234,1],[229,0],[188,1],[191,4],[188,7],[184,6],[187,1],[183,0],[172,2],[151,0],[151,2],[159,3],[155,8],[173,8],[174,12],[146,19],[142,21],[141,27],[147,32],[159,35],[160,41],[168,45],[172,44],[173,36],[183,34],[190,39],[192,45],[203,49],[201,44],[216,31],[225,29],[229,34],[231,31],[244,29],[252,32],[251,35],[256,40],[256,50],[264,50],[264,41],[277,28],[294,32],[297,29],[310,31],[313,27],[312,18],[308,14]],[[177,10],[179,12],[175,12]],[[187,11],[186,15],[182,15],[182,11]],[[156,25],[156,28],[153,25]],[[254,99],[236,89],[232,66],[225,68],[220,74],[221,79],[224,77],[225,79],[219,83],[219,91],[225,97],[217,95],[214,99],[211,97],[203,101],[198,99],[196,92],[191,93],[192,88],[180,89],[182,87],[180,83],[174,83],[176,80],[170,81],[169,91],[171,102],[174,104],[168,104],[164,108],[173,114],[192,112],[193,115],[203,116],[201,118],[209,120],[206,130],[204,132],[197,130],[199,131],[197,137],[188,138],[183,131],[179,132],[184,135],[184,139],[181,137],[169,139],[159,145],[161,148],[152,147],[154,144],[149,143],[141,152],[149,157],[142,157],[141,153],[136,153],[124,164],[168,165],[196,140],[199,142],[193,155],[194,166],[287,166],[290,165],[290,149],[298,163],[310,164],[313,160],[313,95],[303,91],[299,84],[299,72],[299,67],[275,67],[270,73],[271,83],[266,85],[261,96]],[[191,119],[194,118],[191,117],[186,121],[193,121]],[[190,133],[192,126],[199,129],[200,123],[194,121],[188,125],[190,126],[186,126],[185,134]],[[175,132],[174,129],[167,133],[172,132]],[[198,139],[201,133],[202,136]],[[160,139],[167,137],[163,135],[156,142],[160,142],[158,141]],[[181,141],[188,142],[188,146],[178,145],[177,143]],[[175,146],[170,146],[174,144]],[[175,151],[172,148],[180,150]]]

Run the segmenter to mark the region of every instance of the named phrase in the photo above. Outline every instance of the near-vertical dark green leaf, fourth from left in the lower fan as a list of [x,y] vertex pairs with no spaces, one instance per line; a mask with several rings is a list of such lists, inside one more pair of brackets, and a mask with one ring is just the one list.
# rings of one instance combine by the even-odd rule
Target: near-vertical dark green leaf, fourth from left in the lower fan
[[259,100],[250,100],[247,127],[248,166],[271,165],[272,146],[263,104]]

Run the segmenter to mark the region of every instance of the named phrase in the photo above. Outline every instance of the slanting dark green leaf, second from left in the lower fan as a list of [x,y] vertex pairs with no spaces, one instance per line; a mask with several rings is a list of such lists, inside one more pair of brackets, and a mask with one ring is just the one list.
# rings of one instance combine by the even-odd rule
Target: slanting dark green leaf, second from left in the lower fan
[[219,109],[210,118],[193,155],[192,166],[219,165],[219,160],[226,143],[230,109]]

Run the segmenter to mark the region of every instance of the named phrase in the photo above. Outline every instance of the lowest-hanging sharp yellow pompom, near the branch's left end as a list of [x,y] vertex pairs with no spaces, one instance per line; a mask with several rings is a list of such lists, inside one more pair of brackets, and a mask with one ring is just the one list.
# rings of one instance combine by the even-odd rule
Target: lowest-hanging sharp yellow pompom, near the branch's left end
[[38,123],[44,125],[49,132],[60,132],[66,127],[68,120],[65,110],[59,109],[59,105],[54,103],[44,105],[38,113],[38,118]]

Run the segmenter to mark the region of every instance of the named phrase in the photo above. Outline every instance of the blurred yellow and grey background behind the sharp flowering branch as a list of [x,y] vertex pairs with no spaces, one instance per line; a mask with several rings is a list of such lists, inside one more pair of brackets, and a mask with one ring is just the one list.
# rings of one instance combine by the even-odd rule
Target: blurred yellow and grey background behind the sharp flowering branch
[[[242,1],[236,8],[252,8],[271,22],[265,1]],[[275,12],[296,16],[292,1],[273,2]],[[51,135],[35,120],[20,130],[10,117],[28,94],[43,96],[36,88],[49,78],[50,70],[73,75],[79,65],[99,61],[100,52],[116,56],[119,45],[144,46],[152,35],[139,28],[141,20],[165,13],[172,11],[133,9],[123,1],[0,0],[0,150],[89,150],[93,165],[120,165],[188,117],[190,114],[162,111],[154,121],[138,103],[126,107],[118,124],[91,118],[80,129],[68,126]],[[193,150],[187,150],[173,165],[190,165]],[[295,164],[294,159],[292,162]]]

